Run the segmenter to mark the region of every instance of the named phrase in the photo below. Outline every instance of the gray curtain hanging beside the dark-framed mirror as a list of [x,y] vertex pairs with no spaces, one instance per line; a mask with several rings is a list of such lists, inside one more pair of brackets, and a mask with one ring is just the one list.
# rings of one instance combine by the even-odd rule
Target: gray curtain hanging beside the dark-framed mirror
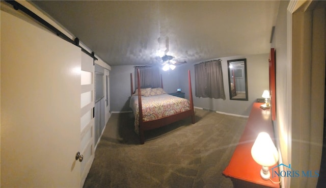
[[196,97],[226,99],[221,60],[195,65],[195,95]]

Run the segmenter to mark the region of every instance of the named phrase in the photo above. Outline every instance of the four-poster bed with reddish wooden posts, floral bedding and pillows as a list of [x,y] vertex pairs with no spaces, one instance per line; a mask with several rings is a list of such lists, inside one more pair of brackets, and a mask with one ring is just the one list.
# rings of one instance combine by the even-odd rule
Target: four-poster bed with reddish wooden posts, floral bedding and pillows
[[195,111],[191,86],[190,70],[188,70],[189,100],[167,94],[163,90],[162,77],[161,88],[142,88],[140,85],[140,73],[137,70],[138,88],[133,92],[132,73],[130,108],[135,117],[135,132],[139,134],[141,144],[144,144],[144,131],[158,128],[192,117],[195,123]]

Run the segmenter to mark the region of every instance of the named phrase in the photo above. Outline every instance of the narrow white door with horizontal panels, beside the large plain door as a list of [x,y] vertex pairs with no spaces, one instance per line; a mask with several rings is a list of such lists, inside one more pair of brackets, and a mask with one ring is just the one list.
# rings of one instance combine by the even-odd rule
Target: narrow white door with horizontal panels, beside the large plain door
[[81,73],[80,152],[84,159],[80,169],[80,187],[83,187],[94,160],[94,64],[93,59],[82,53]]

